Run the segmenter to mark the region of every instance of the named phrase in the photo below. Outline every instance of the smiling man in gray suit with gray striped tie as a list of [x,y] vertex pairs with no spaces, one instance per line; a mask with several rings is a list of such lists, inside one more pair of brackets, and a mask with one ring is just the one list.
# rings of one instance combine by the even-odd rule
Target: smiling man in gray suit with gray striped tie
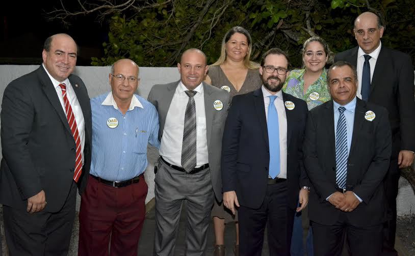
[[159,112],[154,255],[173,255],[181,204],[187,202],[186,255],[203,255],[214,202],[222,201],[220,155],[229,95],[203,81],[206,55],[188,49],[180,81],[156,84],[148,101]]

